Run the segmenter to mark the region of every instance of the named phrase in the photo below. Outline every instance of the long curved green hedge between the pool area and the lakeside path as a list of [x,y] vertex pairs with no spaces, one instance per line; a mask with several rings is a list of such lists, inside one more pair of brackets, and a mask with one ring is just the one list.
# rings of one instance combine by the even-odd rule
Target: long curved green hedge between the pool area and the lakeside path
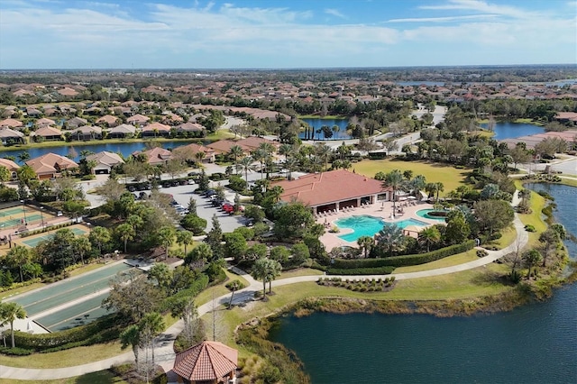
[[[441,248],[440,250],[430,251],[426,253],[417,253],[414,255],[393,256],[380,259],[358,259],[358,260],[343,260],[335,259],[332,268],[335,270],[353,270],[366,268],[380,268],[380,267],[407,267],[409,265],[425,264],[426,262],[443,259],[447,256],[452,256],[464,251],[470,251],[475,246],[474,240],[463,242],[462,244],[451,245],[449,247]],[[350,273],[352,274],[352,273]]]

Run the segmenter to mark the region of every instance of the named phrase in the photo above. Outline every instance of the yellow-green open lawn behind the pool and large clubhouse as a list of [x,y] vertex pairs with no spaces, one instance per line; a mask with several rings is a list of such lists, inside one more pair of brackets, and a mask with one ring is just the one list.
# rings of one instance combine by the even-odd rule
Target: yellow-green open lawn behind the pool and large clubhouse
[[441,182],[444,185],[446,195],[449,191],[464,184],[464,178],[469,173],[468,169],[455,169],[444,164],[426,161],[401,161],[401,160],[362,160],[353,164],[353,169],[362,175],[373,178],[377,172],[390,172],[398,169],[401,172],[412,170],[413,177],[423,175],[427,183]]

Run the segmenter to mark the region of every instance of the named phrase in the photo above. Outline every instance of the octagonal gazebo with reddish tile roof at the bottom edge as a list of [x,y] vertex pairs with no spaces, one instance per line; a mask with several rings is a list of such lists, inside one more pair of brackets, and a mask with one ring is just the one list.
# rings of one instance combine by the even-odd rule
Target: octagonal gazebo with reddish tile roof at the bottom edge
[[216,384],[236,382],[238,352],[223,343],[202,342],[179,352],[174,373],[179,383]]

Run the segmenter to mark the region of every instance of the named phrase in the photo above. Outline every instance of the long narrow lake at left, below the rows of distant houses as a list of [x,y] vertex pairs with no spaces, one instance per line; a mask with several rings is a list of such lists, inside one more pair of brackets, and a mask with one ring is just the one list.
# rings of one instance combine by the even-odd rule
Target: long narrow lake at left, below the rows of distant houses
[[[187,145],[190,142],[161,142],[160,145],[162,148],[170,149],[176,148],[181,145]],[[30,154],[30,158],[34,159],[39,156],[45,155],[46,153],[57,153],[62,156],[66,156],[69,154],[70,148],[74,148],[74,151],[77,151],[78,157],[74,159],[78,161],[80,159],[80,151],[93,151],[93,152],[100,152],[100,151],[109,151],[109,152],[120,152],[123,154],[124,158],[128,157],[134,151],[142,151],[146,149],[146,142],[117,142],[117,143],[106,143],[103,142],[102,144],[91,144],[91,145],[74,145],[73,142],[63,143],[59,147],[50,147],[50,148],[31,148],[29,150],[16,150],[16,151],[2,151],[0,152],[0,157],[5,156],[14,156],[16,161],[18,161],[18,155],[22,152],[28,152]]]

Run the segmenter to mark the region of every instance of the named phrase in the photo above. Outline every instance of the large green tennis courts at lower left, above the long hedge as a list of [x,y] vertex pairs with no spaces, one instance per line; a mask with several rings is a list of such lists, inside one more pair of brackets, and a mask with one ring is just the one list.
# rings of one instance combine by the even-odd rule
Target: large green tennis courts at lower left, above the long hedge
[[[16,297],[14,301],[23,306],[29,316],[35,317],[57,306],[108,288],[110,279],[114,278],[116,274],[123,273],[131,268],[128,264],[124,264],[124,262],[115,263],[80,275],[78,278],[62,280],[51,284],[47,288],[32,291],[30,294],[23,295],[22,297]],[[104,296],[106,296],[106,294],[104,294]],[[100,301],[102,302],[102,299],[100,299]],[[92,309],[93,303],[87,300],[86,302],[78,303],[78,305],[70,306],[70,308],[73,307],[76,307],[73,312],[76,311],[77,315],[70,315],[69,311],[64,313],[64,309],[62,309],[54,314],[50,314],[50,324],[60,323],[69,317],[78,317],[78,315]]]

